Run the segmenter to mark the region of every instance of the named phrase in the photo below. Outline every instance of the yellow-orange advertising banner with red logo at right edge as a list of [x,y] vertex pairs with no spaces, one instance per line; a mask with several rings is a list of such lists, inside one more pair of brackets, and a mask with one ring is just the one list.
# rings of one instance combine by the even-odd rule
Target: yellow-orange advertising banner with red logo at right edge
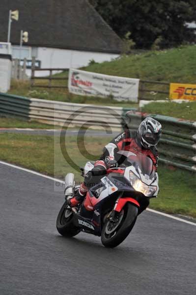
[[196,84],[170,83],[169,98],[196,100]]

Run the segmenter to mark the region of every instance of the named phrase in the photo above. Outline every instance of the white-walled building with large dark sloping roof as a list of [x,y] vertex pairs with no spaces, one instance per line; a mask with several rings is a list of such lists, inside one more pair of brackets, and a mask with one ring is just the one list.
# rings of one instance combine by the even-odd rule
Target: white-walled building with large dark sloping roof
[[[0,0],[0,41],[7,39],[9,9],[19,10],[11,27],[13,58],[35,57],[41,68],[78,68],[121,52],[121,39],[87,0]],[[29,37],[20,53],[21,29]]]

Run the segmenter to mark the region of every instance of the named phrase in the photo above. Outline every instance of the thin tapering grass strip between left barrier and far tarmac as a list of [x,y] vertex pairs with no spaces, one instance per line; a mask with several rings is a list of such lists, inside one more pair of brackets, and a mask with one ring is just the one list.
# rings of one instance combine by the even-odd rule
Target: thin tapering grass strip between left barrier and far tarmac
[[[0,117],[0,128],[54,129],[54,125],[28,121],[19,118]],[[60,127],[56,126],[56,128]]]

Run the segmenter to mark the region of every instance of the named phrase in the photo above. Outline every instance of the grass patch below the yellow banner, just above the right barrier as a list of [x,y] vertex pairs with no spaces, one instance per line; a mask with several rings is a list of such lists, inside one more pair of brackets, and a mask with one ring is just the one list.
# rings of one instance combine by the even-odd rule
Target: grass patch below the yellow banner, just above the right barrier
[[149,103],[141,108],[142,112],[196,120],[196,102],[159,102]]

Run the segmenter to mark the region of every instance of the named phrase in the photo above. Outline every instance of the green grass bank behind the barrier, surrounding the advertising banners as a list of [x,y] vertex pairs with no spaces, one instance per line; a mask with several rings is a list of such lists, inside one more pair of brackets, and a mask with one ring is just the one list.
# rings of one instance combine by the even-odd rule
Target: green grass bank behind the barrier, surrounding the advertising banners
[[[142,54],[132,54],[121,56],[118,59],[103,63],[93,63],[83,68],[86,71],[139,78],[143,80],[166,81],[173,83],[193,83],[195,84],[196,76],[196,46],[181,46],[174,49],[162,51],[149,51]],[[59,77],[67,77],[68,73],[56,74]],[[67,85],[67,81],[53,81],[54,85]],[[36,84],[47,85],[46,80],[37,80]],[[149,86],[152,87],[152,86]],[[163,86],[156,86],[162,89]],[[148,89],[148,87],[147,87]],[[155,89],[156,90],[156,89]],[[23,95],[27,97],[49,99],[73,103],[102,104],[112,106],[122,106],[127,108],[137,108],[137,104],[127,104],[116,102],[112,97],[87,97],[73,95],[68,89],[48,89],[48,88],[30,88],[29,82],[12,81],[9,93]],[[150,99],[156,99],[157,95],[148,94]],[[162,98],[166,98],[165,94]],[[151,103],[144,106],[141,111],[173,116],[177,118],[196,118],[196,102],[187,104],[176,103]]]

